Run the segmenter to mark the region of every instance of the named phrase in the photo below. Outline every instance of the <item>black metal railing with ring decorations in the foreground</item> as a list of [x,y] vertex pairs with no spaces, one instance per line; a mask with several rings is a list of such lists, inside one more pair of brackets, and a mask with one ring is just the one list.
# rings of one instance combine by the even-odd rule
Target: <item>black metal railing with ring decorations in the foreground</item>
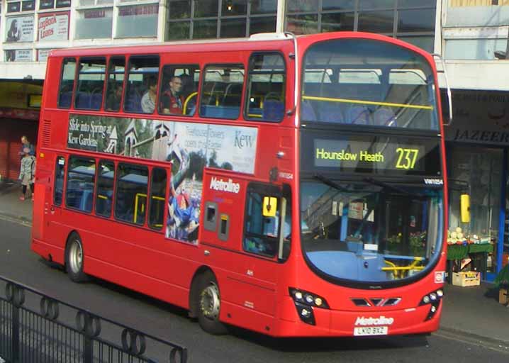
[[187,350],[0,277],[4,362],[186,363]]

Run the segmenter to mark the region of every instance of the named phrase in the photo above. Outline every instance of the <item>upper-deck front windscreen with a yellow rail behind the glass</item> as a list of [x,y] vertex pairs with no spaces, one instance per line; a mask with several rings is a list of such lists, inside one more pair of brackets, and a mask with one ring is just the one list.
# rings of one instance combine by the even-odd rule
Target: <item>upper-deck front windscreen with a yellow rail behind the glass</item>
[[427,60],[398,45],[316,43],[303,61],[301,121],[438,130],[434,82]]

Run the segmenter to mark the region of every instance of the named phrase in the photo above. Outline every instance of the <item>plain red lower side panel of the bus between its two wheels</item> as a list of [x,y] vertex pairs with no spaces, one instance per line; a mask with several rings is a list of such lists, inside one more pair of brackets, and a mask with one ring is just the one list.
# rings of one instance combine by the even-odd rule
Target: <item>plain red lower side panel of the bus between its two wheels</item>
[[[84,271],[176,305],[188,306],[188,290],[198,263],[182,256],[196,255],[194,245],[168,240],[162,233],[64,211],[62,219],[77,228],[84,248]],[[110,231],[104,235],[99,231]]]

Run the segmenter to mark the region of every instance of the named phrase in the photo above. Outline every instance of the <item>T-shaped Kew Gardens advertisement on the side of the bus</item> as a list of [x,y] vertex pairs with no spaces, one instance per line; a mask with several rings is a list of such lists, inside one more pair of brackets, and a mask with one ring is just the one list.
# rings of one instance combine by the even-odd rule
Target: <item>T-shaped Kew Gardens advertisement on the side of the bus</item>
[[172,162],[166,237],[196,243],[203,167],[253,174],[257,128],[71,115],[67,147]]

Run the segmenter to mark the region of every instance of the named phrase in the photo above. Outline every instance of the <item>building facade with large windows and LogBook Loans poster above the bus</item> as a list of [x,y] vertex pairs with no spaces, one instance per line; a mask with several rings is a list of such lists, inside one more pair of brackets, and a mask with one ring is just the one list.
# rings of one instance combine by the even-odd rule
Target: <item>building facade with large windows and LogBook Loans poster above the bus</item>
[[[424,4],[423,4],[424,3]],[[289,30],[383,33],[434,49],[436,1],[1,0],[0,79],[43,79],[56,48],[245,38]]]

